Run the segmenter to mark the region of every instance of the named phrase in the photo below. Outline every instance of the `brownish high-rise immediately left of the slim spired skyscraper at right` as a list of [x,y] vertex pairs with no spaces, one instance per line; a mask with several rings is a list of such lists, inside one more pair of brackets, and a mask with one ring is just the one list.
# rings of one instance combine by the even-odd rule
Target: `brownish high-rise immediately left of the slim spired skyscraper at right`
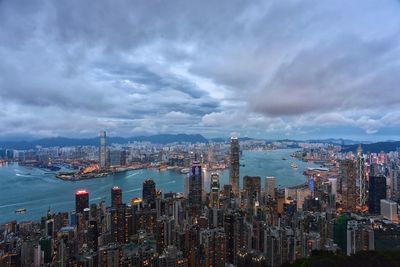
[[353,160],[340,162],[339,170],[342,206],[344,210],[354,211],[357,206],[357,169]]

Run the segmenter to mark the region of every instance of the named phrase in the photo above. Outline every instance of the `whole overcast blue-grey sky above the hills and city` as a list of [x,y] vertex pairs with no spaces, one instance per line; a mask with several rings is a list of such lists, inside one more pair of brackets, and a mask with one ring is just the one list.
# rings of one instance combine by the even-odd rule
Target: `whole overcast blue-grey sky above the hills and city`
[[400,139],[400,2],[0,0],[0,138]]

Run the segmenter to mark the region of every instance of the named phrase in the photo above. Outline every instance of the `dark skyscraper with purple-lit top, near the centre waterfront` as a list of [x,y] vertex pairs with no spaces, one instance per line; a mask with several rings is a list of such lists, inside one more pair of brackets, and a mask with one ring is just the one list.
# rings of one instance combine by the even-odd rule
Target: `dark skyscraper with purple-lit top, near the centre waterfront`
[[203,172],[201,164],[193,161],[189,171],[189,206],[191,215],[199,217],[203,206]]

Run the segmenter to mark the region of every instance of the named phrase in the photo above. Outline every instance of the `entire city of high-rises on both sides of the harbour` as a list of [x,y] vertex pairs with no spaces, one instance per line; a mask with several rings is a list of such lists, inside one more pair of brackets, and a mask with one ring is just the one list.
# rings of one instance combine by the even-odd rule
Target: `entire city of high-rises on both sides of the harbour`
[[[288,158],[274,160],[294,171],[300,162],[313,167],[301,170],[302,182],[283,187],[277,177],[241,175],[243,151],[290,151]],[[80,188],[68,196],[74,201],[71,210],[53,211],[44,203],[49,208],[40,217],[2,221],[1,263],[283,266],[314,251],[347,256],[396,251],[399,153],[365,153],[361,144],[268,143],[236,136],[221,142],[121,146],[109,144],[105,131],[97,147],[2,149],[2,168],[40,168],[66,183],[155,169],[183,176],[184,190],[163,192],[146,177],[138,192],[115,185],[108,188],[110,201],[94,201],[90,190]],[[225,184],[221,171],[229,174]],[[29,212],[20,207],[12,216]]]

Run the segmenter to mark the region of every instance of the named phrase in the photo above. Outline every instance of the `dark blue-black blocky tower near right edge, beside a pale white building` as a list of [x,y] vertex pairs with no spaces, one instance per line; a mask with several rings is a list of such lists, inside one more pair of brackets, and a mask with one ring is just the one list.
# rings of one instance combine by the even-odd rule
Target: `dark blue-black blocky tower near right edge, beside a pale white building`
[[370,214],[381,213],[381,199],[386,198],[386,177],[370,176],[368,193],[368,211]]

